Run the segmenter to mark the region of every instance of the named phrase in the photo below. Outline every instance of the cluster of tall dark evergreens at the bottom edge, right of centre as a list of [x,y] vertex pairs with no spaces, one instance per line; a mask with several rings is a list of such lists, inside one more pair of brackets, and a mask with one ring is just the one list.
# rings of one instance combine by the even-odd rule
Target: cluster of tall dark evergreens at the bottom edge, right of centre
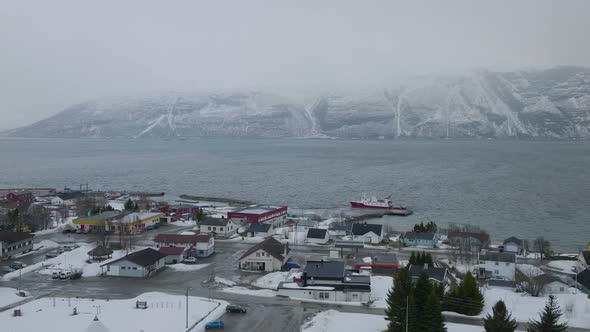
[[409,269],[401,269],[387,296],[387,331],[406,331],[406,322],[409,332],[446,331],[440,305],[443,292],[442,287],[432,285],[425,271],[414,284]]

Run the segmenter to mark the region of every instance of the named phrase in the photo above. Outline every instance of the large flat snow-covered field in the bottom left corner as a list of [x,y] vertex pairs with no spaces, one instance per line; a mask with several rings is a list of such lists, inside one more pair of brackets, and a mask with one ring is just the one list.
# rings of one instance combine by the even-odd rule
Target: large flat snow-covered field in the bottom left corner
[[[147,301],[148,308],[135,309],[135,301]],[[93,323],[99,312],[99,321],[112,332],[184,331],[185,304],[186,298],[182,295],[155,292],[134,299],[110,301],[43,298],[22,305],[22,317],[13,317],[10,310],[0,313],[0,326],[3,331],[11,332],[46,331],[51,326],[54,328],[49,330],[80,332]],[[225,301],[189,297],[189,326],[205,318],[191,331],[203,331],[207,322],[223,315],[226,305]],[[72,315],[74,308],[77,315]]]

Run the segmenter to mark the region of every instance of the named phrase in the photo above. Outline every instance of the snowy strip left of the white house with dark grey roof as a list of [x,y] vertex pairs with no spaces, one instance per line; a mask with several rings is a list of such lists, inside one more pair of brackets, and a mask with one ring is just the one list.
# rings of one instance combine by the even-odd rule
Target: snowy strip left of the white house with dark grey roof
[[[80,244],[79,248],[72,251],[66,251],[63,254],[51,258],[45,261],[38,262],[36,264],[29,265],[20,270],[12,271],[2,276],[3,281],[8,281],[18,277],[20,274],[29,273],[32,271],[38,271],[42,275],[51,275],[53,272],[59,272],[64,270],[81,270],[83,277],[95,277],[102,273],[100,268],[101,264],[121,258],[127,254],[125,250],[115,250],[111,259],[102,262],[88,263],[88,251],[92,250],[95,246],[83,243]],[[143,248],[136,248],[140,250]]]

